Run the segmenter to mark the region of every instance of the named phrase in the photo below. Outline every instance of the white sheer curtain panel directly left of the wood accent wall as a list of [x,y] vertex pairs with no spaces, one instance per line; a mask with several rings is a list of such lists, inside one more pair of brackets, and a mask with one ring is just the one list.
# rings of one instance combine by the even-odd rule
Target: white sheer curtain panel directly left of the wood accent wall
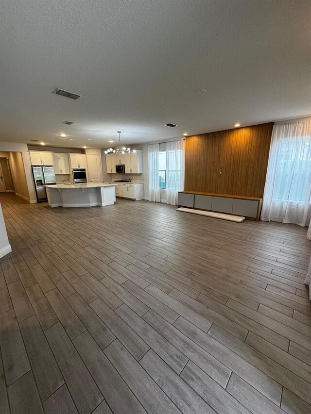
[[176,205],[185,183],[185,140],[166,143],[165,202]]

